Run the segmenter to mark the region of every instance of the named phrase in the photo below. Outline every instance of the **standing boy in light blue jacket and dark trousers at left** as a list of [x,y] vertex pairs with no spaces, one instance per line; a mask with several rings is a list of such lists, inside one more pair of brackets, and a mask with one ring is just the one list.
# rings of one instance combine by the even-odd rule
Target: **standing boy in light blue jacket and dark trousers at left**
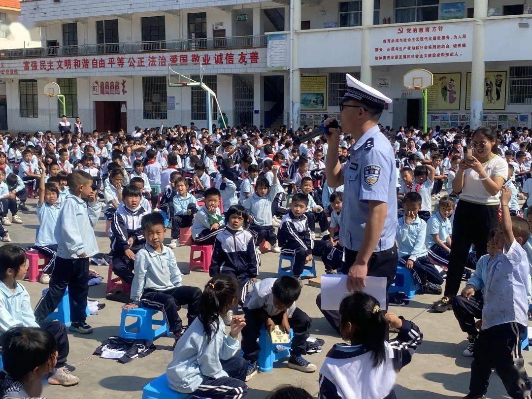
[[[69,288],[71,331],[90,334],[93,328],[85,322],[89,291],[89,256],[98,251],[94,226],[102,212],[92,188],[93,178],[85,171],[76,170],[68,177],[70,194],[57,218],[54,236],[57,241],[57,259],[49,288],[35,308],[35,319],[41,322],[52,313]],[[88,202],[85,201],[88,200]]]

